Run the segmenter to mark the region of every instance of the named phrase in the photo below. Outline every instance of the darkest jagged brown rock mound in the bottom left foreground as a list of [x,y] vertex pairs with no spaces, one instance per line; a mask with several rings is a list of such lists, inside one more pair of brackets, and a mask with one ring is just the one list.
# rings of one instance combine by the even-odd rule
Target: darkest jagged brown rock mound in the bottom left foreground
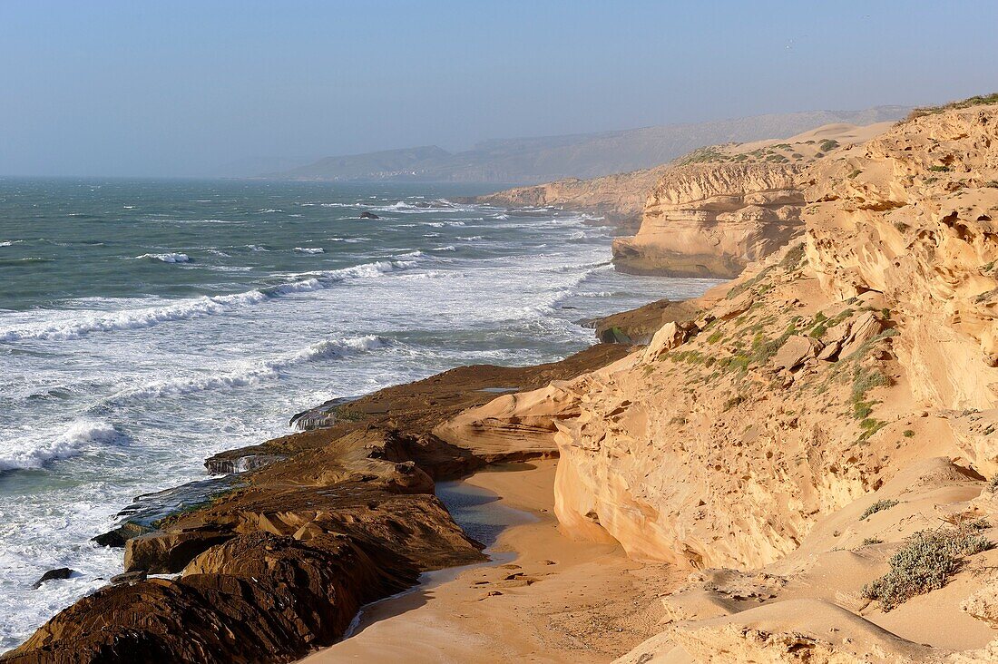
[[361,604],[417,571],[341,535],[307,542],[257,532],[198,559],[176,581],[105,587],[8,653],[17,664],[290,661],[329,644]]

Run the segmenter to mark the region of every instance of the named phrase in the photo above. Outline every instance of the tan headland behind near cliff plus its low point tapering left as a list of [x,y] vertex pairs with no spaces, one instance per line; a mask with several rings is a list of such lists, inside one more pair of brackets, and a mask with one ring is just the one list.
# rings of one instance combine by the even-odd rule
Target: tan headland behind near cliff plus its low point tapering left
[[634,233],[614,241],[621,272],[734,279],[800,232],[807,168],[889,126],[834,124],[788,139],[710,146],[652,169],[519,187],[475,201],[601,215]]

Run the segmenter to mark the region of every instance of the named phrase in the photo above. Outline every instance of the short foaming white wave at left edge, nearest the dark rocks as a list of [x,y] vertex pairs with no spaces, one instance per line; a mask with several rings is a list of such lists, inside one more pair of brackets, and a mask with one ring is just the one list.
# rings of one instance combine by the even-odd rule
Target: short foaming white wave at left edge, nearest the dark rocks
[[43,435],[32,439],[29,434],[18,436],[16,441],[0,443],[0,470],[40,468],[50,461],[77,456],[100,445],[125,439],[127,436],[109,422],[80,419],[54,437]]

